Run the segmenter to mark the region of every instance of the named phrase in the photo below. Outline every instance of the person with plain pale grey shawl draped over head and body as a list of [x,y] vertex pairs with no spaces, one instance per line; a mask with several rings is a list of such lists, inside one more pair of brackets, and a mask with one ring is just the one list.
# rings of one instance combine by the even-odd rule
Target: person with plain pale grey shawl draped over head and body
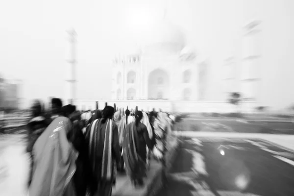
[[67,138],[71,129],[68,118],[58,117],[36,141],[29,196],[76,196],[73,174],[78,153]]

